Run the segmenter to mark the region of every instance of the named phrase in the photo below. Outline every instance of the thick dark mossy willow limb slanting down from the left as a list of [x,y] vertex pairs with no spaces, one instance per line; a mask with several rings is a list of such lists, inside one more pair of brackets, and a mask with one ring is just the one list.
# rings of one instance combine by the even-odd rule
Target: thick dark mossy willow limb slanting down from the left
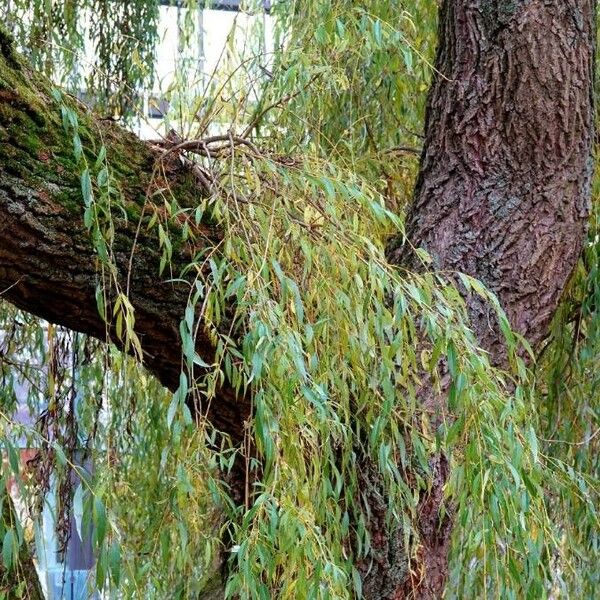
[[[162,202],[165,188],[180,205],[197,205],[201,182],[176,155],[163,160],[162,151],[94,117],[75,99],[65,101],[78,116],[78,134],[89,161],[106,148],[112,180],[123,197],[124,214],[114,210],[112,215],[117,277],[135,309],[143,362],[173,390],[181,370],[179,323],[190,288],[172,279],[179,277],[192,252],[213,248],[220,234],[203,227],[193,248],[174,249],[172,267],[160,277],[159,241],[138,225],[149,217],[144,212],[148,202]],[[27,312],[104,340],[110,327],[96,301],[102,282],[83,221],[80,175],[50,82],[14,52],[0,30],[0,293]],[[116,336],[112,339],[119,343]],[[207,362],[212,360],[213,348],[202,331],[197,351]],[[211,407],[212,424],[239,442],[249,414],[247,402],[224,388]]]

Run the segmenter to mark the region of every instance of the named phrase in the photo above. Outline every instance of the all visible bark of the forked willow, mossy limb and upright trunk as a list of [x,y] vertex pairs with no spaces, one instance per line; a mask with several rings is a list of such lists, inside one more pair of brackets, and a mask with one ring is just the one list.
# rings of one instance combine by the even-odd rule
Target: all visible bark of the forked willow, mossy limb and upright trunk
[[[594,31],[593,0],[444,0],[440,12],[437,71],[408,236],[429,251],[437,268],[482,280],[498,295],[513,327],[533,344],[545,335],[584,239]],[[0,291],[24,310],[104,339],[78,167],[50,92],[0,33]],[[98,148],[104,140],[127,199],[130,218],[117,221],[114,248],[126,280],[148,191],[167,180],[180,202],[187,198],[191,206],[198,186],[192,173],[172,162],[154,177],[156,150],[77,112],[84,146]],[[218,231],[207,230],[203,243],[212,247],[218,239]],[[157,248],[150,235],[138,238],[129,293],[145,364],[173,389],[187,288],[157,283]],[[418,268],[407,248],[394,240],[390,261]],[[179,250],[175,272],[191,251]],[[489,307],[475,298],[467,302],[482,346],[496,364],[504,364]],[[210,360],[208,339],[199,340],[198,351]],[[219,400],[211,404],[209,418],[239,442],[250,414],[248,399],[225,389]],[[421,505],[423,561],[413,567],[424,577],[415,586],[397,580],[406,571],[404,557],[396,536],[386,539],[380,532],[383,571],[373,570],[375,577],[366,582],[370,598],[441,595],[451,531],[448,520],[438,519],[444,457],[436,459],[433,472],[431,493]]]

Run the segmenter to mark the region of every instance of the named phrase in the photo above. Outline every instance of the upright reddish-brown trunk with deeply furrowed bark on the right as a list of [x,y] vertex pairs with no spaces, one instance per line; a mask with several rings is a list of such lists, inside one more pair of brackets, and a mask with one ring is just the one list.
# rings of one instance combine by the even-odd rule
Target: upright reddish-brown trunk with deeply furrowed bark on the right
[[[594,38],[594,0],[445,0],[440,9],[407,236],[435,268],[482,281],[533,346],[547,334],[585,238]],[[388,258],[419,268],[401,239]],[[492,308],[476,297],[467,305],[482,347],[505,365]],[[422,504],[419,597],[439,597],[447,577],[442,471]]]

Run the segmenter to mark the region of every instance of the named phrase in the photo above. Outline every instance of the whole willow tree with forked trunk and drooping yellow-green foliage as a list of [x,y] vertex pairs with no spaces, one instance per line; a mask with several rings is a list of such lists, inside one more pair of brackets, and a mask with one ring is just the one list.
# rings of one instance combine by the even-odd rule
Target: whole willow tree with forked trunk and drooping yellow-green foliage
[[[62,380],[89,383],[92,440],[119,453],[97,451],[81,500],[101,531],[97,585],[591,597],[597,465],[542,438],[565,364],[595,393],[596,263],[578,263],[595,5],[442,2],[406,209],[413,24],[387,1],[352,4],[276,6],[288,37],[254,101],[243,86],[225,98],[230,73],[194,112],[197,136],[155,142],[54,88],[1,34],[3,297],[112,341],[172,392],[126,356],[98,374],[102,347]],[[221,112],[230,129],[203,133]],[[570,348],[547,341],[561,298]],[[597,419],[586,406],[571,430]],[[68,471],[57,412],[42,462]],[[575,443],[589,458],[595,441]]]

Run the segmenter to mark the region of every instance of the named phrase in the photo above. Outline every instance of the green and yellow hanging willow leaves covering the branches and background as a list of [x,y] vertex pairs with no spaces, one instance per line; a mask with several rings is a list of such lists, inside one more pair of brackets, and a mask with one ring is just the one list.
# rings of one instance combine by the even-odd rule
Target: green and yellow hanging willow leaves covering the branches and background
[[[152,71],[158,3],[124,2],[117,11],[113,4],[17,0],[5,10],[22,23],[15,33],[34,64],[63,85],[80,86],[74,57],[89,36],[98,64],[88,91],[131,110]],[[248,9],[258,14],[256,5]],[[530,369],[522,359],[526,343],[479,282],[461,278],[469,293],[497,307],[511,355],[507,372],[492,368],[478,348],[464,301],[445,274],[408,273],[384,258],[386,240],[402,230],[416,173],[435,5],[275,3],[275,51],[265,55],[263,21],[251,20],[237,37],[232,32],[200,97],[181,87],[195,68],[182,62],[165,91],[171,124],[186,136],[231,135],[211,152],[189,155],[206,174],[200,205],[180,206],[166,191],[149,199],[143,217],[142,226],[157,232],[165,270],[172,248],[193,242],[207,215],[225,232],[215,251],[174,274],[192,290],[181,316],[175,394],[114,348],[0,305],[2,443],[9,458],[21,433],[42,449],[36,477],[20,473],[16,460],[7,461],[4,477],[22,475],[35,514],[56,474],[60,510],[94,524],[99,589],[193,597],[212,585],[207,580],[226,544],[230,597],[359,595],[356,564],[372,541],[361,473],[379,473],[408,568],[419,552],[419,496],[443,450],[457,524],[448,597],[594,597],[597,215]],[[81,21],[86,14],[93,18]],[[86,30],[81,22],[94,25]],[[185,39],[193,39],[197,21],[183,23]],[[110,251],[120,196],[111,157],[100,151],[92,162],[82,152],[76,117],[62,97],[56,93],[56,110],[73,139],[82,213],[105,275],[102,311],[108,287],[126,289]],[[135,350],[135,314],[124,292],[119,298],[105,316],[120,322]],[[214,364],[195,352],[198,327],[214,340]],[[444,378],[451,381],[447,412],[429,415],[419,401],[423,384],[441,390]],[[220,438],[209,423],[196,426],[184,402],[188,394],[203,405],[217,402],[224,379],[252,395],[246,448],[215,448]],[[11,417],[13,386],[23,381],[32,407],[44,405],[38,427],[25,432]],[[75,466],[81,448],[92,475]],[[226,483],[236,454],[251,482],[241,506]],[[77,485],[66,476],[73,468],[81,474]],[[28,531],[2,535],[3,560],[14,567]]]

